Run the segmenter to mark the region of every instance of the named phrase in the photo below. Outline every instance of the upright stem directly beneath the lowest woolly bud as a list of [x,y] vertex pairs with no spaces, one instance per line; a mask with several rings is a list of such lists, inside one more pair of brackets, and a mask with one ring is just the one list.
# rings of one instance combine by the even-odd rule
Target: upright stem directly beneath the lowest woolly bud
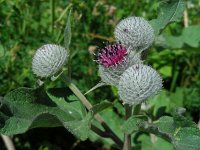
[[[125,119],[128,120],[132,115],[132,106],[125,104]],[[124,146],[123,150],[131,150],[131,134],[124,133]]]

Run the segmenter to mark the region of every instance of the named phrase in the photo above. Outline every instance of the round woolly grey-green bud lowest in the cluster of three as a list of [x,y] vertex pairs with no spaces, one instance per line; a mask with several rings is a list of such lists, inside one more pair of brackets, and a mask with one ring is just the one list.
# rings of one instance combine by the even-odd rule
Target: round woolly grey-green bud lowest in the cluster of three
[[153,68],[136,64],[120,77],[119,96],[124,104],[137,105],[162,88],[162,78]]

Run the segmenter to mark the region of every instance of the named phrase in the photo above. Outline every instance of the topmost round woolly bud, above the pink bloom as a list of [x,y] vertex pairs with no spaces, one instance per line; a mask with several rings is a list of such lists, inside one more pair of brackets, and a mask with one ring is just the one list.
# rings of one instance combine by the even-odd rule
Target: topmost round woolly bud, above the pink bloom
[[141,17],[128,17],[118,23],[115,38],[133,50],[143,51],[154,41],[154,30],[148,21]]

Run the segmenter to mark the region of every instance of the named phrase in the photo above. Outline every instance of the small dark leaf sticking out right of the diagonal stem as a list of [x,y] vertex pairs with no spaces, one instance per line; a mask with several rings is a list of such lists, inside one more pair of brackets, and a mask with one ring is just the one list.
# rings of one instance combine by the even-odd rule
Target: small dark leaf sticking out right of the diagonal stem
[[111,106],[113,106],[113,104],[112,104],[111,102],[105,100],[105,101],[102,101],[102,102],[100,102],[100,103],[94,105],[94,106],[91,108],[91,111],[92,111],[94,114],[96,114],[96,113],[99,113],[99,112],[103,111],[104,109],[109,108],[109,107],[111,107]]

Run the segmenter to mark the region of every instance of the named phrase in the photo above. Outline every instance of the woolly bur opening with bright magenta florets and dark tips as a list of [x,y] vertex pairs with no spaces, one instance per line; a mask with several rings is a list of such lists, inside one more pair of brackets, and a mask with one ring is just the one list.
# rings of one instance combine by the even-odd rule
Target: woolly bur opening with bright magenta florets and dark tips
[[116,43],[103,48],[97,55],[101,80],[117,86],[121,74],[133,64],[141,63],[139,54],[128,54],[125,45]]

